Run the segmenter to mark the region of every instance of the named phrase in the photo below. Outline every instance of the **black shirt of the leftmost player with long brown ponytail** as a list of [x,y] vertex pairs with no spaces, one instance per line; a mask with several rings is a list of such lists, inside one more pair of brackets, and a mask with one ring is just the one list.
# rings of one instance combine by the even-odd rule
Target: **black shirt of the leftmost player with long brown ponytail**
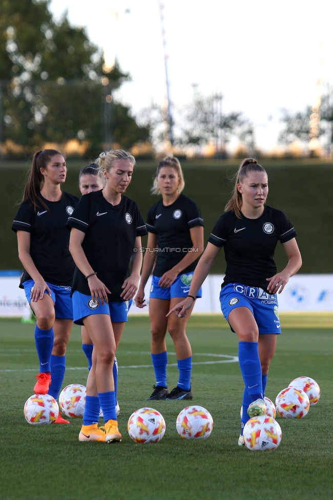
[[[71,286],[75,264],[69,252],[69,233],[66,229],[68,216],[78,203],[78,198],[63,191],[59,201],[40,198],[49,210],[30,200],[20,204],[12,230],[31,234],[30,255],[43,279],[59,286]],[[25,271],[22,283],[32,278]]]

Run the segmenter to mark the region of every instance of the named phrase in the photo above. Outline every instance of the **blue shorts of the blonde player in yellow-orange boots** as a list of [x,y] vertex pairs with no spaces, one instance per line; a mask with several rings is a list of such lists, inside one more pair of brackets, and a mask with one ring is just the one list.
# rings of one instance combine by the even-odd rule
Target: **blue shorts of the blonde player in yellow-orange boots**
[[92,314],[107,314],[110,316],[112,323],[127,321],[129,301],[118,302],[116,300],[109,300],[108,303],[105,302],[102,305],[93,299],[91,295],[81,294],[77,290],[73,292],[72,298],[74,323],[76,325],[84,326],[82,319]]

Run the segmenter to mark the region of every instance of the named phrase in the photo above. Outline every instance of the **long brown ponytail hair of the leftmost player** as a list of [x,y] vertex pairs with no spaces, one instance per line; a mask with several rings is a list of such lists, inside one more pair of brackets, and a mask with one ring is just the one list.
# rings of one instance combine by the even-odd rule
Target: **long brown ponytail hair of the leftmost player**
[[40,169],[46,169],[47,164],[55,155],[61,155],[60,151],[55,149],[45,149],[44,151],[37,151],[33,155],[31,170],[27,185],[24,189],[22,201],[30,200],[35,208],[37,207],[37,202],[39,202],[45,207],[46,210],[49,210],[49,207],[41,199],[39,194],[44,183],[44,176],[41,174]]

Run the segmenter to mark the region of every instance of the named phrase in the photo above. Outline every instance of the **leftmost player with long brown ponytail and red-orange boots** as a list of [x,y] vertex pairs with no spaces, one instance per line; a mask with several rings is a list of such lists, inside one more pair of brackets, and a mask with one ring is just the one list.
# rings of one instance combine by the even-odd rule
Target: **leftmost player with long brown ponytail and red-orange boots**
[[[34,391],[49,393],[55,399],[64,380],[66,346],[73,324],[70,294],[75,264],[65,224],[78,198],[61,191],[66,173],[66,162],[59,151],[35,153],[23,202],[12,225],[25,268],[21,284],[37,320],[40,372]],[[60,415],[56,422],[69,423]]]

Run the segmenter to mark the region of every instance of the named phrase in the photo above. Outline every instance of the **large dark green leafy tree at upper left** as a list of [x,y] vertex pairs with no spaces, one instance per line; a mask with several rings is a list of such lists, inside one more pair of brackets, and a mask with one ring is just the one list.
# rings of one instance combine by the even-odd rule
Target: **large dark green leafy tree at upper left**
[[104,74],[102,51],[85,29],[71,26],[66,13],[56,23],[49,4],[0,0],[3,139],[29,149],[76,138],[88,141],[89,152],[110,136],[127,148],[147,139],[148,128],[112,98],[129,75],[118,65]]

